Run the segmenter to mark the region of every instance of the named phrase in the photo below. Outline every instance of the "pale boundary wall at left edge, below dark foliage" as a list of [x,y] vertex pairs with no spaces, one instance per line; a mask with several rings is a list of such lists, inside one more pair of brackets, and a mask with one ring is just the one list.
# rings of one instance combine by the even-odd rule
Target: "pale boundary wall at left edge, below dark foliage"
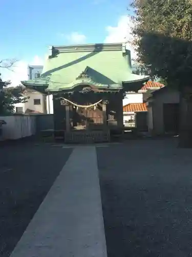
[[6,124],[2,125],[0,140],[19,139],[36,133],[36,117],[30,115],[1,116]]

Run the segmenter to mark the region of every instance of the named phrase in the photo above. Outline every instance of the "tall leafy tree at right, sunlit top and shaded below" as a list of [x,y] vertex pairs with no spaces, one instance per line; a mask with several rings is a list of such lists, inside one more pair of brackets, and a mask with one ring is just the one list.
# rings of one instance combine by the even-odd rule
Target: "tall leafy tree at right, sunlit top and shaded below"
[[[192,4],[190,0],[133,0],[133,45],[151,76],[178,88],[187,102],[182,144],[192,145]],[[183,101],[181,101],[183,102]],[[190,117],[190,119],[189,119]],[[188,145],[189,146],[189,145]]]

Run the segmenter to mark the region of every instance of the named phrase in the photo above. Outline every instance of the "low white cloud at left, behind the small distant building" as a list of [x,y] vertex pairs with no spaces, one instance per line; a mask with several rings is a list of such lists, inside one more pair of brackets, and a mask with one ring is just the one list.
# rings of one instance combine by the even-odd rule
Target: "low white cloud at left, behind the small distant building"
[[11,86],[17,86],[22,80],[28,80],[28,65],[43,65],[44,60],[39,56],[35,56],[31,61],[24,60],[16,62],[10,69],[1,68],[0,73],[4,81],[10,80]]

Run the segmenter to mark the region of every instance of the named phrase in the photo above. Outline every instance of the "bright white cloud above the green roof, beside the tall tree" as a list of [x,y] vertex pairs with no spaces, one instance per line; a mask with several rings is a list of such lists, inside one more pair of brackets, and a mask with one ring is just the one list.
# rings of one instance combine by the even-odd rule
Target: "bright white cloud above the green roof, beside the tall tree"
[[[131,35],[132,26],[133,22],[131,21],[130,17],[126,15],[121,16],[116,27],[106,27],[108,35],[106,36],[104,43],[131,42],[133,40],[133,36]],[[131,57],[136,58],[136,52],[130,43],[126,43],[126,48],[131,50]]]

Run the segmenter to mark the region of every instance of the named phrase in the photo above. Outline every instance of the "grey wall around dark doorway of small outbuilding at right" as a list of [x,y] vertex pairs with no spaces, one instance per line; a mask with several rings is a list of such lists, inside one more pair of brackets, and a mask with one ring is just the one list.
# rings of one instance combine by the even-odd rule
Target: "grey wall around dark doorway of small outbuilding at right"
[[[154,96],[152,102],[152,109],[148,107],[150,113],[148,113],[148,125],[153,127],[153,134],[164,134],[164,122],[163,122],[163,104],[164,103],[179,103],[179,92],[173,90],[164,90],[160,94]],[[153,118],[152,118],[153,115]],[[152,126],[153,120],[153,126]]]

